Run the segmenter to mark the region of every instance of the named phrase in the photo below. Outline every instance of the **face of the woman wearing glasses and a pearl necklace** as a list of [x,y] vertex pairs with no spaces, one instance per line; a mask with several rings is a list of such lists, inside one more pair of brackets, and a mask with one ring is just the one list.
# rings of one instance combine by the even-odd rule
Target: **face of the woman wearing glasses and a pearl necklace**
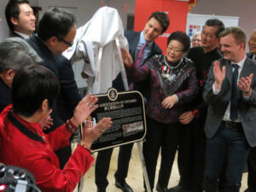
[[171,40],[166,49],[166,58],[168,61],[177,62],[183,58],[184,46],[177,40]]

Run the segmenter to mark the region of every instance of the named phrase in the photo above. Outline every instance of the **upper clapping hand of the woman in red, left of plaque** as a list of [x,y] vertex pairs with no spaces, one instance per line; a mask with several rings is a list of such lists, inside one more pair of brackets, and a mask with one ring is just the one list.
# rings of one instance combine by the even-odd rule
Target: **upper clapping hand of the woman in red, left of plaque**
[[98,106],[95,105],[97,101],[98,98],[96,96],[92,96],[91,94],[85,96],[84,99],[79,102],[79,104],[75,108],[73,118],[70,119],[73,125],[78,127],[81,123],[83,123],[84,120],[90,116],[90,113],[98,108]]

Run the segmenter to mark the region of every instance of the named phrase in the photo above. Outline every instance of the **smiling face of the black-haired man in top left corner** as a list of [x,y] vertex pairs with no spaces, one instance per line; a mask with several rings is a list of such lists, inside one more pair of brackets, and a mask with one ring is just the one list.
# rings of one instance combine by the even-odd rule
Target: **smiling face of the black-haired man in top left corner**
[[36,17],[33,9],[27,3],[19,4],[19,8],[19,19],[11,18],[12,23],[15,26],[15,31],[31,36],[32,32],[36,29]]

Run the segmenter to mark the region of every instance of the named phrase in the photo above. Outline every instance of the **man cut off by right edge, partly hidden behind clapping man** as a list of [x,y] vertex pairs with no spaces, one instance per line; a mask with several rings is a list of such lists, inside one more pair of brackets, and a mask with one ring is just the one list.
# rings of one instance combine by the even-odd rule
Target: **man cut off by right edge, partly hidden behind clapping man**
[[[256,61],[256,29],[253,31],[251,38],[248,41],[249,45],[249,53],[247,53],[247,57]],[[247,184],[248,189],[245,192],[254,192],[256,191],[256,148],[252,148],[247,160],[248,166],[248,178]]]

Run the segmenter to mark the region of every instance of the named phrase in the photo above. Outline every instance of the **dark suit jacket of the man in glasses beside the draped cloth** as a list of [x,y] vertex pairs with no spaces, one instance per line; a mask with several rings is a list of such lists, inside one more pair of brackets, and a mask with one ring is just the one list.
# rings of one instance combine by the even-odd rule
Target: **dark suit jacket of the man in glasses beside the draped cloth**
[[66,121],[73,116],[73,110],[81,100],[78,86],[74,79],[72,65],[64,56],[53,55],[47,46],[35,35],[29,38],[27,43],[35,49],[43,60],[38,64],[49,68],[60,81],[61,91],[54,109],[54,113],[56,113],[54,119],[56,125],[54,127],[58,127],[63,123],[61,119]]

